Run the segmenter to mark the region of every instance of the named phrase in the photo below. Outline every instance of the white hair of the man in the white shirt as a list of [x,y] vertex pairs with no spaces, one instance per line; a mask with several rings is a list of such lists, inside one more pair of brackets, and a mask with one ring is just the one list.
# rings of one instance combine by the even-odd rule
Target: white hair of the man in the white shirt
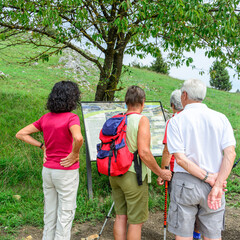
[[207,87],[201,80],[189,79],[184,81],[181,92],[186,92],[189,99],[201,102],[206,96]]

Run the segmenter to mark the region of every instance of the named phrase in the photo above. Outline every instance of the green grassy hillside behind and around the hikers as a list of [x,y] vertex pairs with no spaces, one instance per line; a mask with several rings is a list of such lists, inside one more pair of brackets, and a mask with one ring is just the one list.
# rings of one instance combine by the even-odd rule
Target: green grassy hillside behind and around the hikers
[[[23,225],[42,227],[43,193],[41,181],[42,152],[15,138],[16,132],[46,113],[45,104],[54,83],[73,80],[79,83],[82,100],[93,101],[98,81],[98,71],[84,59],[73,55],[80,70],[69,69],[66,58],[53,56],[49,62],[19,64],[38,49],[16,46],[1,50],[0,71],[0,230],[1,239],[14,239],[14,233]],[[63,58],[64,57],[64,58]],[[64,60],[65,59],[65,60]],[[60,61],[59,61],[60,60]],[[122,91],[116,93],[117,100],[124,100],[126,88],[138,85],[146,91],[147,100],[160,100],[169,109],[171,92],[180,88],[182,81],[147,70],[126,67],[121,79]],[[240,157],[240,94],[208,89],[204,101],[210,108],[224,113],[230,120],[237,140],[237,156]],[[75,111],[82,124],[81,111]],[[37,134],[42,140],[42,136]],[[81,149],[80,185],[75,221],[102,219],[111,206],[110,187],[106,176],[99,177],[92,164],[94,199],[88,199],[85,147]],[[161,159],[158,159],[159,163]],[[240,164],[233,170],[228,181],[228,204],[240,206]],[[150,186],[149,205],[152,211],[163,208],[163,187],[155,183]],[[16,200],[13,195],[20,195]]]

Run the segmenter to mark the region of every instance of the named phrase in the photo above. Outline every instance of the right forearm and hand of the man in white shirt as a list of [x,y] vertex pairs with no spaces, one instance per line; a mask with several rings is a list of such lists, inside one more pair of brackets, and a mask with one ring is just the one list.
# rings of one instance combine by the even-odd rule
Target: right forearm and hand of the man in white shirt
[[235,157],[236,152],[234,146],[229,146],[224,149],[224,155],[220,171],[218,173],[216,182],[208,195],[208,206],[211,209],[216,210],[221,207],[221,199],[223,193],[222,186],[224,182],[227,180],[232,170]]

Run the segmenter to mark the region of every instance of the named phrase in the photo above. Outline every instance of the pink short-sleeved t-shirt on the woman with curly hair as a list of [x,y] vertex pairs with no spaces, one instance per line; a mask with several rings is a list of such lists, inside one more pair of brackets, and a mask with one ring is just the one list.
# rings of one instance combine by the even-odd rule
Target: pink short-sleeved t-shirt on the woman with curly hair
[[72,151],[73,138],[69,128],[79,125],[79,117],[71,112],[52,113],[43,115],[33,125],[43,132],[46,146],[47,161],[43,164],[46,168],[74,170],[79,168],[79,162],[70,167],[60,165],[62,158],[65,158]]

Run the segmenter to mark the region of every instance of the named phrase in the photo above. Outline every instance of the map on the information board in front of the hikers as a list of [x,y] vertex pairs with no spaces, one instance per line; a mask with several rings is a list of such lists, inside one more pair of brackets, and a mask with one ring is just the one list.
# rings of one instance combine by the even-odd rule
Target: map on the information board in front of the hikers
[[[124,102],[81,102],[81,106],[90,161],[95,161],[96,145],[100,143],[99,133],[103,124],[112,116],[125,113],[127,107]],[[165,131],[165,117],[161,102],[145,102],[142,114],[148,117],[150,122],[151,152],[153,156],[161,156]]]

